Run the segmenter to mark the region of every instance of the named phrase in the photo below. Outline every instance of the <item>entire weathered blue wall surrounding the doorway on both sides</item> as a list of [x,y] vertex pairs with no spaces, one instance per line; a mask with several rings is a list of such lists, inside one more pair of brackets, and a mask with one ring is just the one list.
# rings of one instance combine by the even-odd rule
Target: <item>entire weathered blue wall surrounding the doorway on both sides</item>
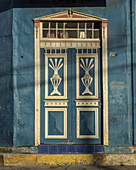
[[[72,9],[108,19],[108,52],[116,52],[117,54],[115,57],[108,57],[109,144],[132,145],[133,130],[136,143],[136,123],[132,129],[131,88],[131,66],[133,64],[133,103],[134,121],[136,122],[136,20],[132,13],[133,60],[131,60],[131,1],[107,0],[106,2],[106,7],[77,7]],[[132,2],[134,4],[133,12],[135,12],[136,4],[134,0]],[[12,1],[0,2],[1,11],[12,7]],[[0,44],[1,146],[12,145],[12,140],[14,146],[34,145],[34,29],[32,19],[66,9],[68,8],[15,8],[0,13],[0,40],[2,42]],[[12,119],[14,119],[14,125]]]

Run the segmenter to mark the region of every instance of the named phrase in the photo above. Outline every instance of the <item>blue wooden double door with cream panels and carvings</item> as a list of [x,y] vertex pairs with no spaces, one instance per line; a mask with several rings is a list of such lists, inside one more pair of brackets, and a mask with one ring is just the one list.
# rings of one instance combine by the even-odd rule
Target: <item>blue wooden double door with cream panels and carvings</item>
[[41,144],[101,144],[100,54],[41,50]]

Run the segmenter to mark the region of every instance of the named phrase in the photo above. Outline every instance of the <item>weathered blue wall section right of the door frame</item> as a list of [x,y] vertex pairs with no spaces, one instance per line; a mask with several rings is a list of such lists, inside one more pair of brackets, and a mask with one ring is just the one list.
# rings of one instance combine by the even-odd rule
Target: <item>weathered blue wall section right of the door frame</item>
[[[116,11],[116,12],[114,12]],[[120,13],[122,15],[120,15]],[[107,1],[109,56],[109,144],[132,145],[130,4]],[[117,17],[118,16],[118,17]]]

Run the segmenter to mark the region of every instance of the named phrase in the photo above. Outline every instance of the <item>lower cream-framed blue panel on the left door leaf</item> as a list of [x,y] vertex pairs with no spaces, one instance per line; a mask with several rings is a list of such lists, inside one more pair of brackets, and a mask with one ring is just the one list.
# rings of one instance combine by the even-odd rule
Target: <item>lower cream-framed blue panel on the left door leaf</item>
[[50,139],[67,138],[67,109],[66,108],[45,109],[45,138],[50,138]]

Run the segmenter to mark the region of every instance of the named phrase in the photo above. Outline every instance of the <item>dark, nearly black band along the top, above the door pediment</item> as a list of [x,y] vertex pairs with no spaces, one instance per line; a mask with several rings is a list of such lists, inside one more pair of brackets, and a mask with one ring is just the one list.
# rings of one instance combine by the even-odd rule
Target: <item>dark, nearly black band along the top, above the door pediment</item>
[[106,0],[1,0],[0,12],[11,8],[105,7]]

